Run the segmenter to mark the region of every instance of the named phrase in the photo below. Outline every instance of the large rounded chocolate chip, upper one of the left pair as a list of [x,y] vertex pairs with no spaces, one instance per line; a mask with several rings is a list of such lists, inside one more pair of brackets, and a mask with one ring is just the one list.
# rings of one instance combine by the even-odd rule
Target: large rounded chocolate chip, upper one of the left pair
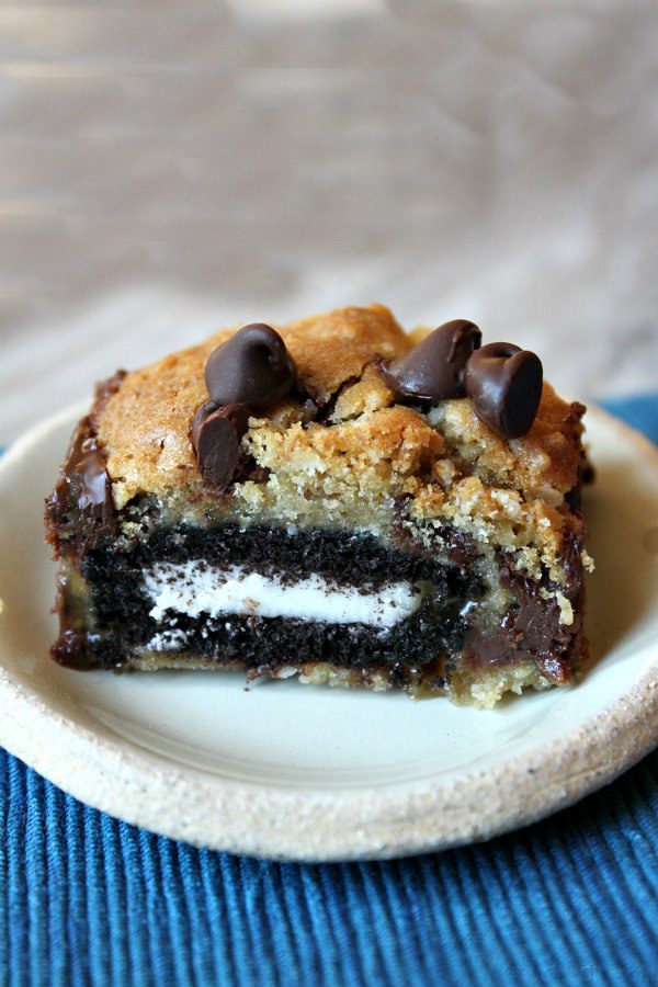
[[264,411],[295,386],[297,371],[281,336],[262,322],[245,326],[213,350],[205,382],[216,406],[249,405]]

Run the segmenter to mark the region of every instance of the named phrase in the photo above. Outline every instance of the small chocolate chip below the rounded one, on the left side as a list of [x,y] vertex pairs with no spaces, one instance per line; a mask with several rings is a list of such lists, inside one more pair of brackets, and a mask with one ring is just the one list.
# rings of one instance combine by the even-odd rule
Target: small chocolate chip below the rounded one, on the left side
[[192,423],[192,443],[198,468],[219,492],[231,484],[240,460],[240,443],[249,423],[249,408],[213,401],[202,405]]

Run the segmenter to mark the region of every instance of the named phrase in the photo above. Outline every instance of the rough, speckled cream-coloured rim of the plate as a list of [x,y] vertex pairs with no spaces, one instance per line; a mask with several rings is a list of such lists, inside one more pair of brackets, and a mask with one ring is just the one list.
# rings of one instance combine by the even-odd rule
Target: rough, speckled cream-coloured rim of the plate
[[[77,402],[15,440],[0,458],[0,477],[87,407]],[[658,469],[658,447],[642,433],[595,405],[588,415],[621,432]],[[0,696],[0,744],[84,804],[194,846],[285,861],[383,860],[490,839],[574,804],[658,744],[658,654],[614,702],[540,751],[458,778],[356,790],[256,785],[116,744],[54,711],[12,676],[2,656]],[[31,722],[38,729],[25,729]],[[172,813],[172,802],[180,812]]]

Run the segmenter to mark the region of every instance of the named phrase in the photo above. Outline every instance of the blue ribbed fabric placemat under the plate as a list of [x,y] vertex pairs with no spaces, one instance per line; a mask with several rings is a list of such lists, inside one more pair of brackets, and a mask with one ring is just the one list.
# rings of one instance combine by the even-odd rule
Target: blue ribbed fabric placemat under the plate
[[[606,402],[658,442],[658,395]],[[658,752],[486,844],[277,864],[86,808],[0,751],[0,983],[658,983]]]

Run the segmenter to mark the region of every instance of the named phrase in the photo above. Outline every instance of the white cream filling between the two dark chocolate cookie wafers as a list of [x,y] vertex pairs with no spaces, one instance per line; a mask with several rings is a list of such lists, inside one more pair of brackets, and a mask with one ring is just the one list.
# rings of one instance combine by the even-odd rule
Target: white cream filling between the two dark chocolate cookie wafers
[[412,582],[390,582],[375,592],[363,592],[315,574],[284,582],[241,566],[219,569],[202,560],[156,563],[144,572],[144,589],[154,604],[150,615],[157,621],[173,610],[191,617],[238,613],[381,628],[394,627],[415,613],[423,595],[421,587]]

